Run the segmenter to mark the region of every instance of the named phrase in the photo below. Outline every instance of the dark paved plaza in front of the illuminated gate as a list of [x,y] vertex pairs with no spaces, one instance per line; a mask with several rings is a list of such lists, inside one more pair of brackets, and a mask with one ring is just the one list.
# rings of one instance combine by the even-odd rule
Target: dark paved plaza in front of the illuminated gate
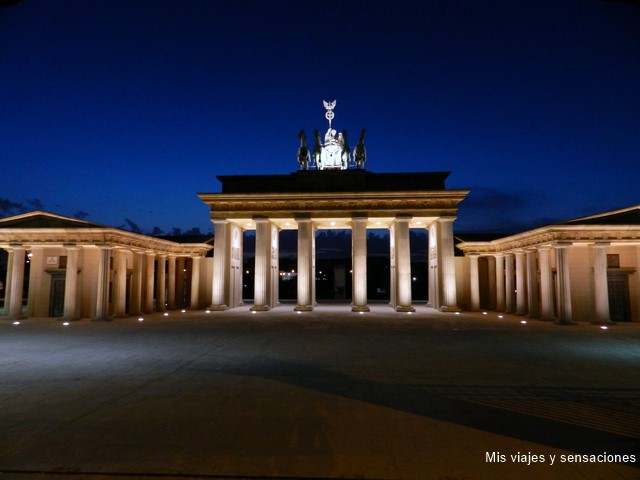
[[0,480],[640,478],[638,324],[292,310],[2,321]]

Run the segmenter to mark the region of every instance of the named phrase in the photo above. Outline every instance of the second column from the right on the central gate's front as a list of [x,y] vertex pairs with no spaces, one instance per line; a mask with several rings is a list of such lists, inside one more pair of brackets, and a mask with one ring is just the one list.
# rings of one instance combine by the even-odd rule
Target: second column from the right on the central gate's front
[[[411,298],[411,246],[409,243],[409,222],[411,217],[398,216],[391,224],[393,236],[392,253],[395,257],[395,284],[391,304],[398,312],[415,312]],[[392,279],[393,280],[393,279]]]

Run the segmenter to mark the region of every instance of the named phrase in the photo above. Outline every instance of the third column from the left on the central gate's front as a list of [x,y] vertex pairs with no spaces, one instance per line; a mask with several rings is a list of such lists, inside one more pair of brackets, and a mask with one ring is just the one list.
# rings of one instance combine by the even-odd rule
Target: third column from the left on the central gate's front
[[315,226],[310,218],[298,223],[298,300],[295,310],[311,311],[315,303]]

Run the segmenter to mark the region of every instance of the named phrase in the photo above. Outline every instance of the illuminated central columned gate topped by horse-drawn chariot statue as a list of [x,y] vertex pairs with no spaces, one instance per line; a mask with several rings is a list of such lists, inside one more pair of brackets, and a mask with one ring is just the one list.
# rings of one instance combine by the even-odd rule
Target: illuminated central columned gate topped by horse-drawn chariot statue
[[364,169],[365,131],[352,149],[332,127],[336,102],[324,102],[329,128],[313,149],[300,131],[299,170],[288,175],[218,176],[221,193],[198,196],[215,226],[212,310],[242,303],[243,231],[254,230],[252,311],[278,305],[279,231],[297,230],[298,312],[315,305],[315,233],[351,230],[352,311],[367,312],[367,229],[388,229],[390,304],[413,312],[409,229],[428,232],[428,305],[458,311],[453,249],[457,206],[468,190],[447,190],[449,172],[372,173]]

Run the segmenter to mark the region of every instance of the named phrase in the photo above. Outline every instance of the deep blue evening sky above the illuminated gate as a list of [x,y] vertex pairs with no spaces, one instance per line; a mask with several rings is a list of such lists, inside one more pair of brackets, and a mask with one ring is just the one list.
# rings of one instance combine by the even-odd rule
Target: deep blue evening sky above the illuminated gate
[[451,171],[457,231],[640,203],[640,8],[604,0],[23,0],[0,9],[0,215],[210,230],[216,175],[367,129]]

